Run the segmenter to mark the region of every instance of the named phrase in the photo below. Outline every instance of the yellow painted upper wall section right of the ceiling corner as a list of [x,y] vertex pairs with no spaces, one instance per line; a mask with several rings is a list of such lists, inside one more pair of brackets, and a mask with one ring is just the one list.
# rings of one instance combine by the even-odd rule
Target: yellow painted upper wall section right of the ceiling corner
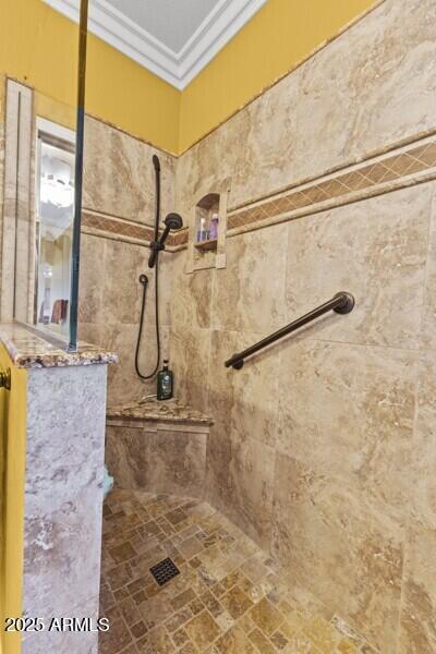
[[229,118],[375,0],[267,0],[182,93],[179,152]]

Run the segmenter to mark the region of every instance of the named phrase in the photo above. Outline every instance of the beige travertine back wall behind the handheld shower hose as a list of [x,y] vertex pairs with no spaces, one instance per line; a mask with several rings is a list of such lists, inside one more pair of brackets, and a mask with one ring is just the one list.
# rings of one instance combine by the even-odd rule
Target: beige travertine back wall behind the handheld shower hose
[[[157,154],[161,166],[161,216],[174,210],[175,159],[100,121],[86,119],[83,206],[97,219],[116,217],[120,232],[129,226],[154,225],[155,177],[152,162]],[[90,222],[90,221],[89,221]],[[141,382],[134,354],[143,287],[148,275],[145,239],[105,235],[84,220],[81,250],[80,338],[113,349],[120,362],[109,371],[108,404],[119,404],[156,392],[156,382]],[[94,220],[94,223],[96,221]],[[169,347],[169,293],[171,254],[160,255],[159,283],[162,354]],[[154,272],[149,274],[147,311],[141,349],[141,368],[153,371],[156,356],[154,332]]]

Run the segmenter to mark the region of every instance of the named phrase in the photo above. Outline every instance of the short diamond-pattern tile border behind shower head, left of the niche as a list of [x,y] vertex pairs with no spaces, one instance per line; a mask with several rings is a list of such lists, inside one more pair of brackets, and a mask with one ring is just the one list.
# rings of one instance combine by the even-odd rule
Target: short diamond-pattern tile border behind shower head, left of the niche
[[[82,213],[82,231],[97,237],[116,239],[144,246],[149,245],[154,235],[154,230],[148,225],[134,223],[124,218],[97,214],[89,209],[85,209]],[[182,229],[175,234],[170,234],[167,243],[169,251],[186,247],[187,229]]]

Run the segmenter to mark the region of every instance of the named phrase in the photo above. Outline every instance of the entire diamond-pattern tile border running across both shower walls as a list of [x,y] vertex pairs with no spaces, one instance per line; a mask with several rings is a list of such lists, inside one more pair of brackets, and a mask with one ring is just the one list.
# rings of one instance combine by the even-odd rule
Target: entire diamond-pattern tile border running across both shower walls
[[[227,235],[262,229],[434,179],[436,135],[232,209],[227,218]],[[154,233],[148,225],[90,209],[84,209],[82,214],[82,230],[143,246],[149,245]],[[187,242],[189,229],[183,228],[169,235],[168,250],[184,250]]]

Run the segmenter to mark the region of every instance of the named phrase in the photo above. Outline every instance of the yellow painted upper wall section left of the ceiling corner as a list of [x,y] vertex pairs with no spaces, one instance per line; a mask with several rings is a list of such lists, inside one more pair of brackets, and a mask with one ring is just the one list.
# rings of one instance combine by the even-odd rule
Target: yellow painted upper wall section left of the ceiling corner
[[[77,39],[41,0],[0,0],[0,73],[37,89],[45,118],[75,107]],[[87,62],[87,112],[175,153],[180,92],[93,35]]]

